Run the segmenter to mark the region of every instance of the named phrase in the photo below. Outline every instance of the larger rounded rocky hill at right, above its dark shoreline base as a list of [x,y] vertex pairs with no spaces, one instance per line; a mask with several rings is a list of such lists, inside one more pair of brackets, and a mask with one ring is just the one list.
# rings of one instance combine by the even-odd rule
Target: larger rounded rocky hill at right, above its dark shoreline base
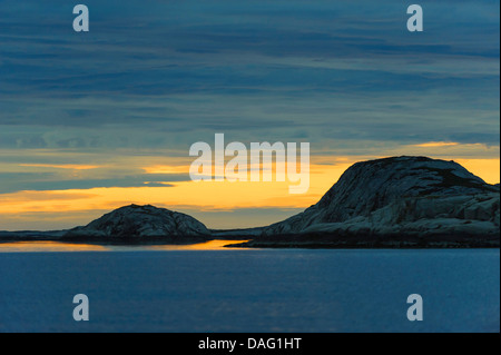
[[499,237],[499,185],[454,161],[394,157],[353,165],[316,205],[262,236]]

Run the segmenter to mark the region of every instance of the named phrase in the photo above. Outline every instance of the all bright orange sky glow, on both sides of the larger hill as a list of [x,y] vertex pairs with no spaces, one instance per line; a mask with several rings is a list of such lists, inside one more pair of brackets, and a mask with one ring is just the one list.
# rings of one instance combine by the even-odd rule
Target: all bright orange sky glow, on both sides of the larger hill
[[[302,209],[316,204],[350,166],[361,160],[360,157],[330,159],[325,156],[314,156],[312,158],[314,159],[312,159],[310,169],[310,189],[303,195],[291,195],[288,187],[293,184],[289,184],[289,181],[194,183],[188,180],[168,181],[166,183],[168,185],[165,187],[24,190],[0,194],[0,214],[4,220],[10,221],[18,220],[21,217],[23,220],[37,220],[37,218],[42,219],[43,214],[47,213],[65,213],[68,216],[68,214],[77,215],[82,211],[112,210],[130,204],[154,205],[173,210],[195,209],[198,211],[235,210],[240,208]],[[487,183],[499,183],[499,158],[454,160]],[[314,161],[322,161],[323,164],[315,164]],[[169,174],[186,174],[187,169],[185,164],[180,166],[151,165],[148,172],[161,174],[158,171],[164,171],[164,174],[167,174],[166,171],[169,171]],[[19,223],[19,225],[22,224]],[[0,229],[2,229],[1,226]]]

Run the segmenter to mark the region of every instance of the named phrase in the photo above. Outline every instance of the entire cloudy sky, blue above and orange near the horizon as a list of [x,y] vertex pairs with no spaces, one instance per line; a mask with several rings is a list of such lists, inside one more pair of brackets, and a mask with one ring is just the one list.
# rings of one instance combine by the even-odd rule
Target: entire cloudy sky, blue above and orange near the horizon
[[[0,0],[0,230],[132,203],[263,226],[400,155],[499,183],[499,1],[418,3],[423,32],[396,0]],[[308,191],[191,181],[189,147],[215,134],[310,142]]]

